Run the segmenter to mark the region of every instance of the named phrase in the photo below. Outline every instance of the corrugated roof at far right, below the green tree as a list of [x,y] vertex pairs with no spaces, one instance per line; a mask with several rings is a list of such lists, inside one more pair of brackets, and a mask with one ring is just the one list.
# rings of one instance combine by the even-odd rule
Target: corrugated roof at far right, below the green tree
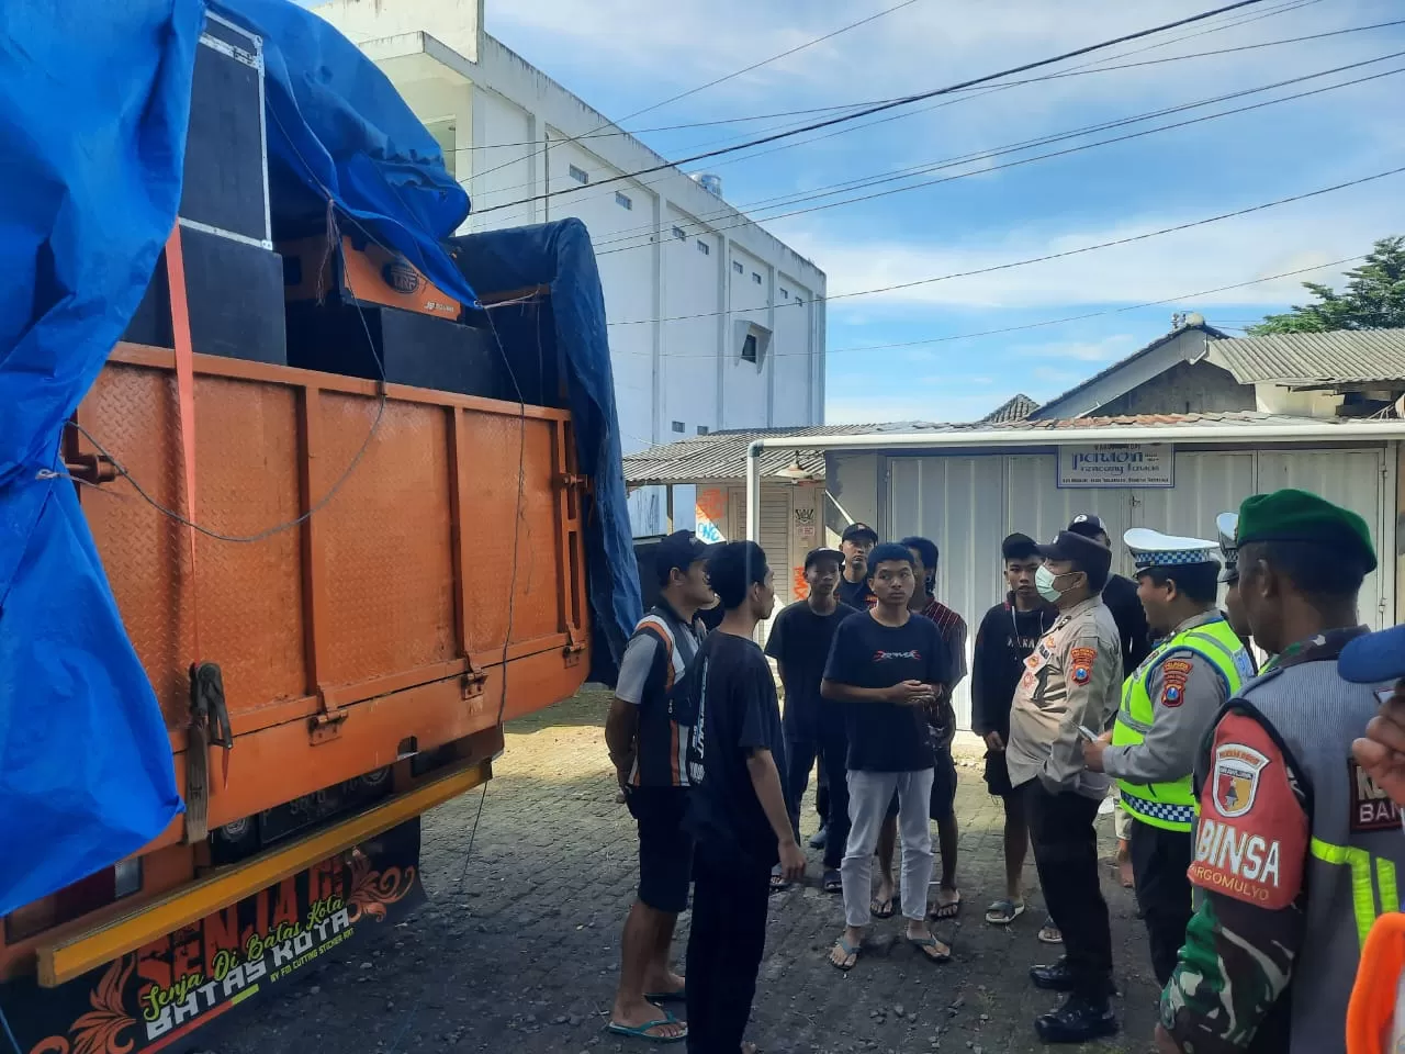
[[1277,381],[1307,386],[1405,381],[1405,329],[1343,329],[1215,340],[1220,358],[1239,384]]

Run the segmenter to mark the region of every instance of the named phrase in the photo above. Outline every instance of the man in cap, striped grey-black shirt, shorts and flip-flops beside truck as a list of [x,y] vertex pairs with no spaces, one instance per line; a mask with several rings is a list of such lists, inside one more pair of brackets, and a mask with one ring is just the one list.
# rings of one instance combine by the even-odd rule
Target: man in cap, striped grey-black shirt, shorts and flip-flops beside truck
[[683,828],[691,786],[687,735],[672,720],[669,700],[707,632],[697,617],[714,599],[707,555],[693,531],[674,531],[659,542],[659,603],[625,646],[606,718],[610,760],[639,825],[639,892],[624,923],[608,1029],[656,1041],[687,1036],[687,1026],[658,1006],[683,999],[683,978],[669,970],[669,950],[693,871],[693,838]]

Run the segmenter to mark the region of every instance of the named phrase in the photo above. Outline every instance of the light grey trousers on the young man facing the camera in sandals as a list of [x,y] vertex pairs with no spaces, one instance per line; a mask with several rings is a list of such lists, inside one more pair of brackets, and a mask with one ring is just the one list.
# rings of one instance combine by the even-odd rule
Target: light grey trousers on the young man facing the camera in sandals
[[927,885],[932,883],[932,828],[927,822],[932,800],[932,769],[917,772],[849,773],[849,845],[839,876],[844,884],[844,922],[867,926],[873,901],[874,849],[898,791],[898,843],[902,846],[902,913],[909,919],[927,916]]

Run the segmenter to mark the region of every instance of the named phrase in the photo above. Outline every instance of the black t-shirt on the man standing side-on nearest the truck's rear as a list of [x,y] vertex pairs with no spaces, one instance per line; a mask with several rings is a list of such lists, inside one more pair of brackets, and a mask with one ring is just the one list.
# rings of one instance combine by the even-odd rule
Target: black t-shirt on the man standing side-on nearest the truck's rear
[[780,859],[776,832],[746,767],[752,752],[762,749],[771,752],[778,773],[785,772],[770,663],[754,641],[715,632],[688,670],[688,689],[698,700],[694,745],[702,756],[702,783],[688,802],[688,828],[722,853],[740,853],[770,867]]

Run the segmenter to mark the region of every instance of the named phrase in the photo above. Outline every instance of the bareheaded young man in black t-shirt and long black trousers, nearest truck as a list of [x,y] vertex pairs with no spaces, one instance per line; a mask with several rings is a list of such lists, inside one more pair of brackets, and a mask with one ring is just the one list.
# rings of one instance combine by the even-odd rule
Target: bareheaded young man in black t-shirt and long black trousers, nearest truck
[[693,757],[702,780],[693,791],[687,826],[697,839],[693,923],[688,932],[688,1050],[742,1051],[766,950],[770,873],[805,874],[781,770],[776,682],[752,639],[776,606],[766,554],[752,541],[721,545],[708,578],[726,614],[698,651],[687,676],[695,710]]

